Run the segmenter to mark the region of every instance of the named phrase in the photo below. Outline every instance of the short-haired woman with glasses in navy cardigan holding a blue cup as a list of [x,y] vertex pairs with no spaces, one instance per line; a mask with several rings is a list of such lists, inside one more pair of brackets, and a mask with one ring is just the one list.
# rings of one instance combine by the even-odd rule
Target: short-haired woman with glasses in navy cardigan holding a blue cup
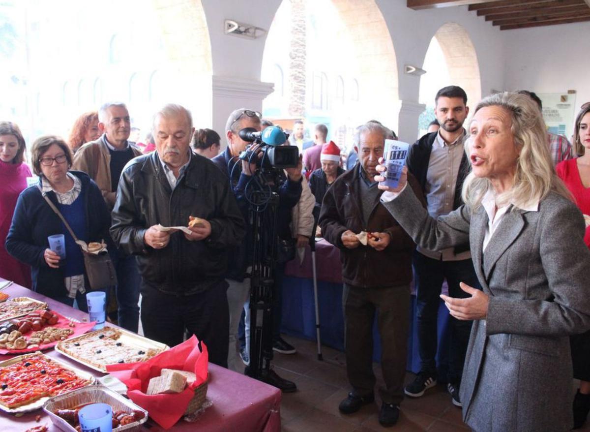
[[[43,195],[58,208],[76,237],[86,243],[104,240],[111,244],[109,210],[100,189],[86,173],[69,171],[71,151],[62,139],[42,136],[35,140],[31,159],[39,184],[18,197],[6,250],[31,266],[35,292],[70,306],[76,299],[78,307],[86,312],[86,291],[90,286],[84,274],[82,251]],[[65,263],[49,247],[47,237],[53,234],[64,234]]]

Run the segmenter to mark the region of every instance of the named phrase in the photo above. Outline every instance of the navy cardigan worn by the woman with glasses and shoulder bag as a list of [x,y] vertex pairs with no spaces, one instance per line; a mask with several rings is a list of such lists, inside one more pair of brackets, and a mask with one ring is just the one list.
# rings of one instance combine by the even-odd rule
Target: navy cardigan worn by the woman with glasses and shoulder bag
[[[84,192],[86,238],[98,242],[104,239],[112,246],[109,249],[113,253],[114,245],[109,235],[110,212],[99,187],[85,172],[70,172],[80,179]],[[48,192],[47,197],[58,206],[53,191]],[[51,210],[37,186],[28,187],[18,197],[12,225],[6,237],[6,251],[31,266],[33,291],[57,298],[67,295],[64,267],[52,269],[43,257],[45,249],[49,247],[47,237],[53,234],[64,234],[60,218]],[[90,286],[86,282],[86,286]]]

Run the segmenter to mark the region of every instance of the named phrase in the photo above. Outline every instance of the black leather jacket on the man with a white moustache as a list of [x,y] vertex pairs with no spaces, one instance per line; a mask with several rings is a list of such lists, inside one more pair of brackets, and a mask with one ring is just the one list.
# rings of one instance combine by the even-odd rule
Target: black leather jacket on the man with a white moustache
[[[137,256],[146,282],[171,294],[203,292],[222,280],[228,247],[239,244],[245,234],[227,178],[207,158],[194,154],[173,191],[158,152],[133,159],[121,175],[112,215],[114,241]],[[152,225],[186,226],[189,216],[208,220],[211,235],[189,241],[179,231],[159,250],[144,243]]]

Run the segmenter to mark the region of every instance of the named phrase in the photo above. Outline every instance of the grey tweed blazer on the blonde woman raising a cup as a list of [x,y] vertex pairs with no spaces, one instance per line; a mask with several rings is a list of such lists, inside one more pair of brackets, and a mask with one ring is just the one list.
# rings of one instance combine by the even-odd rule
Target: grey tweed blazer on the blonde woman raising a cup
[[463,206],[437,220],[411,188],[385,204],[419,246],[470,242],[487,319],[476,320],[460,397],[463,420],[476,432],[570,430],[572,362],[568,335],[590,328],[590,251],[584,218],[551,192],[539,211],[513,208],[483,252],[483,206]]

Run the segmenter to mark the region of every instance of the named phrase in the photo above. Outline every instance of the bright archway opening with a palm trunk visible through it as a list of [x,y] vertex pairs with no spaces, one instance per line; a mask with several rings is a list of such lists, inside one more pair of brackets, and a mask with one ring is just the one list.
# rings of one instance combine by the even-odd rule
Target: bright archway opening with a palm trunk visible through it
[[268,116],[328,123],[340,146],[369,119],[398,127],[394,45],[375,0],[283,0],[268,31],[261,80],[284,89],[265,100]]

